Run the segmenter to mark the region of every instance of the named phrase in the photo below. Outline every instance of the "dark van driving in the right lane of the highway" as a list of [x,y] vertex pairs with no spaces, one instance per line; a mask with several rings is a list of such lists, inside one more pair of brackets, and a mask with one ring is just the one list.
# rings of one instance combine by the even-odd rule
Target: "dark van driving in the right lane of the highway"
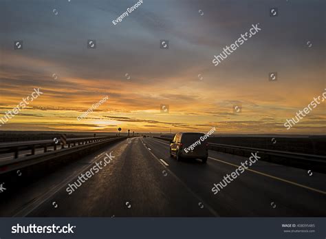
[[176,157],[177,161],[183,158],[200,158],[206,163],[208,147],[201,137],[205,134],[196,132],[177,133],[170,141],[170,156]]

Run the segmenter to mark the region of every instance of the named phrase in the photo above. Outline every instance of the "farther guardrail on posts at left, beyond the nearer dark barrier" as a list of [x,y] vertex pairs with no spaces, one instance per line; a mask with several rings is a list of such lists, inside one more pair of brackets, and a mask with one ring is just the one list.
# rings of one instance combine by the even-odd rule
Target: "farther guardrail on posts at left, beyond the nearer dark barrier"
[[28,156],[35,155],[36,149],[43,149],[43,153],[48,152],[49,147],[53,147],[54,150],[64,149],[67,147],[74,147],[76,145],[87,145],[88,143],[94,143],[99,141],[104,141],[106,139],[113,137],[91,137],[91,138],[67,138],[65,144],[54,142],[53,140],[46,141],[30,141],[30,142],[19,142],[19,143],[1,143],[0,144],[0,154],[14,153],[14,158],[19,158],[19,152],[30,150]]

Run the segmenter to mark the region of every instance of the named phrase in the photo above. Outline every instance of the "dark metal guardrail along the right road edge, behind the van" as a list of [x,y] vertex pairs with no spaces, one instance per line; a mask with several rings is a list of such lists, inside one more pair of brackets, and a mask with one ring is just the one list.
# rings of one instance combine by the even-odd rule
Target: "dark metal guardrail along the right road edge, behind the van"
[[[159,138],[164,141],[171,141],[171,138],[164,138],[164,137],[153,137],[153,138]],[[272,149],[242,147],[237,145],[224,145],[219,143],[208,143],[208,148],[212,150],[221,149],[217,151],[224,151],[224,152],[226,152],[226,149],[232,149],[233,153],[235,153],[236,150],[242,152],[259,152],[261,154],[265,154],[269,156],[279,156],[284,158],[295,158],[295,159],[305,160],[309,162],[326,163],[326,156],[321,156],[316,154],[301,154],[301,153],[286,152],[286,151],[279,151],[279,150],[272,150]]]

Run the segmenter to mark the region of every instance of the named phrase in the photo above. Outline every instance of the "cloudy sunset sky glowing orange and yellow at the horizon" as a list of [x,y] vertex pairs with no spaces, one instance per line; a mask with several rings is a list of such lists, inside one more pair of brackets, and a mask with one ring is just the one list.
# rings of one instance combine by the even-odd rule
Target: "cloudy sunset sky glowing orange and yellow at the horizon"
[[0,118],[43,92],[0,130],[326,134],[325,103],[283,125],[325,92],[325,1],[144,0],[112,23],[137,2],[0,0]]

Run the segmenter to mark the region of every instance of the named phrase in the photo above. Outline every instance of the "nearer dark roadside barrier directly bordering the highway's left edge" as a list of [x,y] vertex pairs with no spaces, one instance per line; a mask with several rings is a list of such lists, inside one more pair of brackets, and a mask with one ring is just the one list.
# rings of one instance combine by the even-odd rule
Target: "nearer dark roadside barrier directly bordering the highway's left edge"
[[[126,138],[126,136],[119,136],[84,138],[83,141],[68,140],[66,145],[70,143],[71,147],[63,147],[59,150],[27,157],[0,160],[0,182],[6,182],[6,185],[12,189],[20,187],[19,185],[22,183],[29,182],[33,178],[41,178],[41,176],[47,175],[63,165],[80,160],[80,158],[84,158]],[[85,143],[85,145],[80,142]],[[72,145],[76,145],[76,147]],[[17,176],[18,173],[21,175]]]

